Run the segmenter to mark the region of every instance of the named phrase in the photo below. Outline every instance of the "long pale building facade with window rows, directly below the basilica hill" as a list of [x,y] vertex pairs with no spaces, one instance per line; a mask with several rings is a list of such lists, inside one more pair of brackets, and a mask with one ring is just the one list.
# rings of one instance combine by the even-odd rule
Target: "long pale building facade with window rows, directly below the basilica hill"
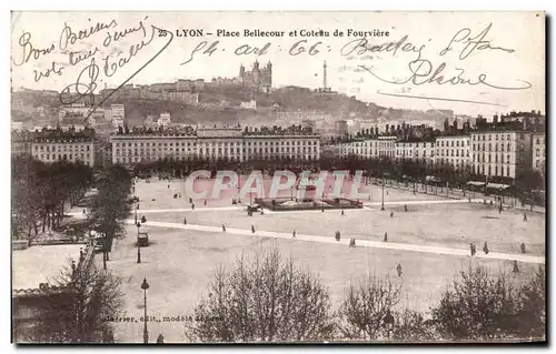
[[319,136],[305,132],[242,131],[241,128],[198,128],[195,133],[119,134],[110,138],[112,162],[133,164],[169,159],[318,160]]

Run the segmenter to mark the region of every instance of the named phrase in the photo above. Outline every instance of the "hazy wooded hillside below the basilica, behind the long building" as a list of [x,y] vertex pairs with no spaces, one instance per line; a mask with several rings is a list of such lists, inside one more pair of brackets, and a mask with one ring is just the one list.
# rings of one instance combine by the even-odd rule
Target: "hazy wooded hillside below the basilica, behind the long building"
[[[12,93],[27,110],[33,107],[60,105],[58,97],[43,97],[41,91],[26,90]],[[101,98],[96,98],[100,102]],[[240,109],[241,102],[257,101],[257,110]],[[199,104],[147,100],[147,99],[109,99],[103,103],[109,108],[111,103],[122,103],[126,107],[126,119],[129,125],[142,125],[147,115],[159,117],[169,112],[173,122],[187,124],[275,124],[272,107],[278,104],[280,111],[317,111],[327,113],[336,120],[359,118],[371,122],[401,121],[436,121],[439,124],[445,119],[441,112],[423,112],[403,109],[387,109],[375,103],[367,103],[342,93],[321,93],[307,88],[285,87],[272,90],[270,93],[254,91],[242,85],[207,87],[199,91]],[[18,107],[18,108],[19,108]],[[26,120],[29,112],[13,110],[12,119]]]

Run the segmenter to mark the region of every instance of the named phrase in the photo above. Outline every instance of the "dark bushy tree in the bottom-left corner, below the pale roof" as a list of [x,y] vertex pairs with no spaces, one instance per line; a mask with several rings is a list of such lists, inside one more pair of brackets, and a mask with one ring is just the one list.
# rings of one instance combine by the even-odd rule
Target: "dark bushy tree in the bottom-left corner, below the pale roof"
[[[80,265],[83,265],[81,263]],[[38,321],[26,333],[33,343],[110,343],[113,328],[109,318],[121,314],[121,281],[95,262],[68,265],[48,287],[39,305]]]

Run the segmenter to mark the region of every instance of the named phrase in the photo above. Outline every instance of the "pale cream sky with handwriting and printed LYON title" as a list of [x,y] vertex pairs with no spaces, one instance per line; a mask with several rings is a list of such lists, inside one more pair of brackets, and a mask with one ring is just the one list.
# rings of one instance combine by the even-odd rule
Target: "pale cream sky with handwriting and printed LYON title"
[[[327,87],[387,108],[544,112],[544,21],[537,12],[12,12],[11,85],[75,91],[80,83],[83,92],[92,74],[98,92],[231,78],[257,60],[272,63],[275,88],[316,89],[326,61]],[[178,37],[183,30],[203,36]]]

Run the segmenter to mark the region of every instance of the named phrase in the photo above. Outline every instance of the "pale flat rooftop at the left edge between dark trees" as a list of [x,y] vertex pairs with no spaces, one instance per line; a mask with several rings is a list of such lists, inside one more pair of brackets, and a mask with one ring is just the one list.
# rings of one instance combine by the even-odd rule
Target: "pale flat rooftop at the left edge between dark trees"
[[40,283],[56,284],[56,277],[69,260],[79,261],[82,244],[38,245],[12,252],[12,289],[37,289]]

